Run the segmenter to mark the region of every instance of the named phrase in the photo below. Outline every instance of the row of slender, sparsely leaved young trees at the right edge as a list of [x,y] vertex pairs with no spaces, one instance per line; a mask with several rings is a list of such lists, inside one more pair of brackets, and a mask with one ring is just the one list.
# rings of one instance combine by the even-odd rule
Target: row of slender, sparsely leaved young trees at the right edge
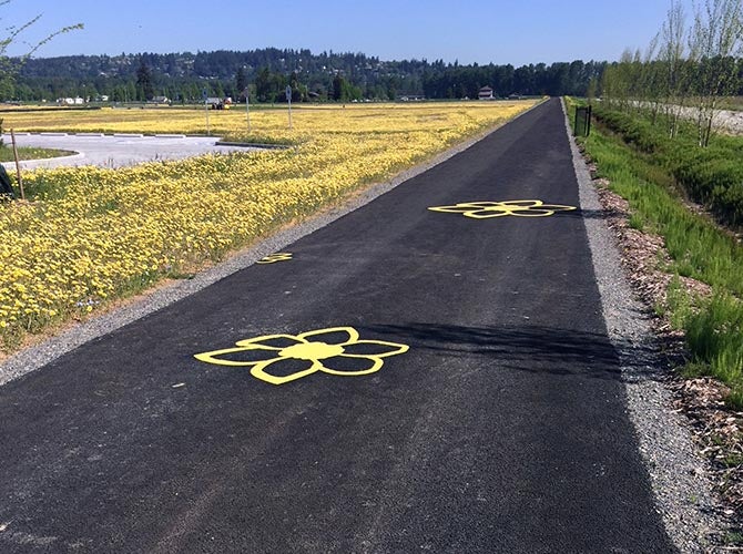
[[605,68],[601,93],[613,109],[647,113],[671,137],[691,117],[700,146],[708,146],[721,101],[743,93],[741,54],[742,0],[705,0],[691,18],[672,0],[647,49],[627,50]]

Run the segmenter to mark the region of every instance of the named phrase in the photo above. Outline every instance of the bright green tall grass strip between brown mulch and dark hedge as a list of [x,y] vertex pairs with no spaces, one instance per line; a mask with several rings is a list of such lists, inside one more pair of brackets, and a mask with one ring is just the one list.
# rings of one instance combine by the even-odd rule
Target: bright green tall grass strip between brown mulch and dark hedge
[[691,297],[676,280],[664,309],[685,332],[691,352],[685,375],[720,379],[732,390],[729,403],[742,409],[743,247],[709,217],[692,213],[669,172],[622,137],[598,125],[581,142],[598,176],[629,202],[630,224],[664,238],[672,261],[662,269],[714,288],[709,298]]

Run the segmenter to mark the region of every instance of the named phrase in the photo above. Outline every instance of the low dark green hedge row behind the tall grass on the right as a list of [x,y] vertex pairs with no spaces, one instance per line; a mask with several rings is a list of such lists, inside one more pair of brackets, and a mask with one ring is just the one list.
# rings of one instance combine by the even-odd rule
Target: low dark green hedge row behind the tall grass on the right
[[663,125],[639,116],[603,107],[593,113],[624,142],[661,164],[692,201],[706,206],[723,224],[743,226],[743,138],[717,136],[702,148],[691,134],[671,138]]

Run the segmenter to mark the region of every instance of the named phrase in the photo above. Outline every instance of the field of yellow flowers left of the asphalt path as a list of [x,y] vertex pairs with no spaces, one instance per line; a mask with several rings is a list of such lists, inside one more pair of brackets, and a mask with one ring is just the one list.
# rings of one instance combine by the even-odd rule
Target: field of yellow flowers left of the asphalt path
[[[211,112],[231,140],[288,150],[108,170],[37,170],[27,203],[0,203],[0,352],[28,334],[223,258],[358,187],[389,178],[512,119],[521,102],[312,106]],[[205,134],[201,110],[6,113],[16,131]]]

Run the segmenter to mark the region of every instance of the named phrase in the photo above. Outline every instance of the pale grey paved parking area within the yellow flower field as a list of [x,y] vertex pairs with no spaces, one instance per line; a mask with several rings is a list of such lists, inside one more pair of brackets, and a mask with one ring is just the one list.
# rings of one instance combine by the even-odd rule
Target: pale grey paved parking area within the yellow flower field
[[[10,144],[10,135],[2,135],[6,144]],[[101,167],[124,167],[144,162],[161,160],[181,160],[211,152],[248,152],[250,147],[221,146],[215,136],[154,135],[141,134],[68,134],[68,133],[16,133],[18,146],[34,146],[75,152],[64,157],[49,160],[30,160],[21,162],[21,168],[61,167],[98,165]],[[14,163],[3,164],[8,170]]]

